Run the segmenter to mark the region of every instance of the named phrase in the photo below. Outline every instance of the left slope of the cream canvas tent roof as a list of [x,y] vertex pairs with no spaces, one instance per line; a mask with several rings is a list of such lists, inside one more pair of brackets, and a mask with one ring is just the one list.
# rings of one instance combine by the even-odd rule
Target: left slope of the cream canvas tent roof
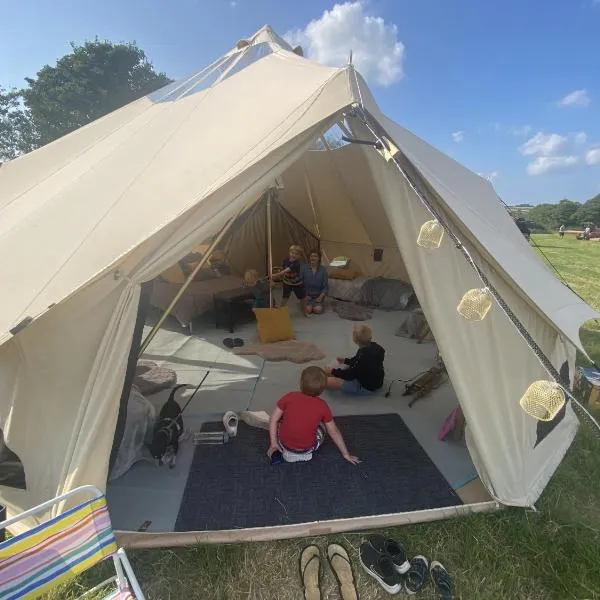
[[3,165],[0,343],[354,101],[348,69],[278,40],[263,28],[219,79],[204,69]]

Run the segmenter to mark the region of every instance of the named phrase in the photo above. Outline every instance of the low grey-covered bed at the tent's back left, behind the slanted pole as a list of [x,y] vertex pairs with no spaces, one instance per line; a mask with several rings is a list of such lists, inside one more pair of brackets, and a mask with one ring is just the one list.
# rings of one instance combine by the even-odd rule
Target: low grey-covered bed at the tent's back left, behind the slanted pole
[[[187,327],[196,317],[213,310],[214,295],[216,293],[233,290],[240,287],[240,285],[242,285],[241,279],[235,275],[223,275],[206,281],[193,281],[185,290],[171,314],[182,327]],[[166,310],[180,289],[181,285],[177,283],[167,283],[155,279],[150,303],[155,308]]]

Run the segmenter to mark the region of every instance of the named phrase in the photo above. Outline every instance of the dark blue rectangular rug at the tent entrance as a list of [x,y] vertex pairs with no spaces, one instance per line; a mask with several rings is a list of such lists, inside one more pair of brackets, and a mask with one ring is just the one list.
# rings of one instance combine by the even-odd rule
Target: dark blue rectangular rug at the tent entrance
[[268,433],[244,423],[227,444],[197,446],[175,530],[288,525],[462,504],[399,415],[336,422],[361,464],[345,461],[328,439],[308,463],[271,466]]

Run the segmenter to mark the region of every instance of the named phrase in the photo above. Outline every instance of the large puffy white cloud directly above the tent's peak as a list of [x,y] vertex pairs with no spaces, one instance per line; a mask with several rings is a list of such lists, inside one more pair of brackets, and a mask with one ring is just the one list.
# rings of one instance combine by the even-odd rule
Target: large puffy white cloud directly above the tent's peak
[[352,50],[357,70],[381,85],[396,83],[404,75],[398,28],[368,15],[362,0],[336,4],[304,29],[288,31],[284,37],[292,46],[301,45],[308,58],[334,67],[347,64]]

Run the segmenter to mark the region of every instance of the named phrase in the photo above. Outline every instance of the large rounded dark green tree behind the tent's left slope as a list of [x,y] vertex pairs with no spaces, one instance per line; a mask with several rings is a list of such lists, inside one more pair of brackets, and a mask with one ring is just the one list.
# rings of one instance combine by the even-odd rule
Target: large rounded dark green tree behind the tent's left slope
[[135,44],[96,39],[71,47],[56,66],[26,78],[23,98],[40,145],[171,83]]

